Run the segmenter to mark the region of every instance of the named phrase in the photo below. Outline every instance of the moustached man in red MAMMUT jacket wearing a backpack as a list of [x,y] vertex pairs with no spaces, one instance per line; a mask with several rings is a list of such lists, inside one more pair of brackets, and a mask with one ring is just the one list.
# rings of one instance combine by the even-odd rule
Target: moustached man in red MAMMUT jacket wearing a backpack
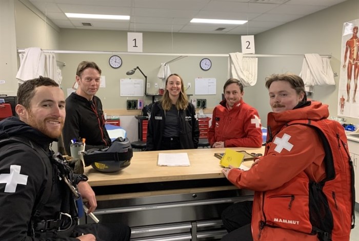
[[[222,240],[349,240],[353,214],[351,167],[349,156],[336,155],[348,151],[344,150],[347,144],[343,128],[327,120],[327,105],[307,101],[299,76],[272,75],[266,87],[273,112],[268,114],[265,155],[256,159],[248,171],[232,167],[222,170],[238,188],[254,190],[254,200],[233,204],[223,212],[223,223],[230,233]],[[301,121],[308,124],[301,125]],[[309,125],[323,127],[320,131],[327,142]],[[324,146],[328,142],[331,144]],[[326,153],[332,154],[334,172],[326,171],[331,170],[325,165],[330,159]],[[331,174],[335,177],[323,184]],[[323,186],[313,194],[312,184]],[[325,200],[314,203],[327,205],[321,211],[330,213],[328,219],[324,218],[324,222],[329,220],[329,225],[325,223],[329,231],[320,230],[316,235],[311,198],[319,197],[320,192],[325,193]]]

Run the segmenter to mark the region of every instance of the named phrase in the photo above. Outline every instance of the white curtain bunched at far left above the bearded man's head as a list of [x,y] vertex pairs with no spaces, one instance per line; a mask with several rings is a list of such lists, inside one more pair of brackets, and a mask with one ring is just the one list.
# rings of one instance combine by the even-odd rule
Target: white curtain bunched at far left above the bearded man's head
[[25,49],[25,52],[19,53],[20,67],[16,74],[19,83],[42,75],[53,79],[61,84],[61,70],[56,65],[56,56],[53,52],[42,51],[41,48],[32,47]]

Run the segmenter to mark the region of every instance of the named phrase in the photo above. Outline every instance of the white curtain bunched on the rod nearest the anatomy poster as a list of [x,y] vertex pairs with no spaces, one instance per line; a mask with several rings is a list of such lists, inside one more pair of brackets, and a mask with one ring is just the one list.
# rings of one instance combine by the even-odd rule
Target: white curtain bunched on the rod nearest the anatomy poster
[[316,53],[305,54],[299,76],[302,77],[307,92],[313,92],[314,86],[335,85],[330,59]]

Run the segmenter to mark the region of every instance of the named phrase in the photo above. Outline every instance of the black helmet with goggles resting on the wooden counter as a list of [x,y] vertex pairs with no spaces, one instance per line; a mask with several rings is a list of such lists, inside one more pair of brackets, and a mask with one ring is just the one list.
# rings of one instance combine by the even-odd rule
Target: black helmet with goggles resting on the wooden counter
[[111,146],[102,150],[90,149],[84,152],[85,167],[92,166],[100,172],[116,172],[128,167],[132,158],[129,139],[118,137]]

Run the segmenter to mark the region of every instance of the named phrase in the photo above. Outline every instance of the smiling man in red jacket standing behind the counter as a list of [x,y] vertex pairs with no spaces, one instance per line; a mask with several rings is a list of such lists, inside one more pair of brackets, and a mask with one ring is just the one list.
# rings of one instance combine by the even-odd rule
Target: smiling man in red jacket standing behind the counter
[[212,148],[261,147],[261,119],[256,109],[243,101],[243,85],[230,78],[223,87],[225,100],[213,110],[208,141]]

